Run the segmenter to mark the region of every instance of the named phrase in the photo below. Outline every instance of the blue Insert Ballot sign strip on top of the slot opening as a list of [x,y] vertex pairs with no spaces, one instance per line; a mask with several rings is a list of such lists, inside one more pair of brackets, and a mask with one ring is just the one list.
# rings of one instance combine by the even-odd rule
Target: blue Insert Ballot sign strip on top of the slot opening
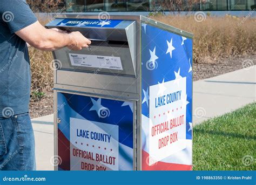
[[114,28],[123,20],[100,20],[100,19],[62,19],[57,26],[76,26],[76,27],[104,27]]

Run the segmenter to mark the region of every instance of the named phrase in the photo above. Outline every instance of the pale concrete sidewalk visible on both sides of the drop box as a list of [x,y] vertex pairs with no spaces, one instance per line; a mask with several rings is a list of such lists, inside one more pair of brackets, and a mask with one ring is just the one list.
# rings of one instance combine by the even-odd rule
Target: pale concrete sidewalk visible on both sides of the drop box
[[[193,83],[193,125],[256,100],[256,65]],[[53,114],[32,119],[37,170],[53,170]]]

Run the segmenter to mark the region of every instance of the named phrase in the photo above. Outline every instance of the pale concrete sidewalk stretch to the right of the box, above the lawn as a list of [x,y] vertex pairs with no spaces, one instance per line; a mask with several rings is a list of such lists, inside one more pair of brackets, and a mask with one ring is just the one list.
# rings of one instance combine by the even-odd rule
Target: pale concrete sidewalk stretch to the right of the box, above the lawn
[[256,65],[193,83],[193,125],[256,100]]

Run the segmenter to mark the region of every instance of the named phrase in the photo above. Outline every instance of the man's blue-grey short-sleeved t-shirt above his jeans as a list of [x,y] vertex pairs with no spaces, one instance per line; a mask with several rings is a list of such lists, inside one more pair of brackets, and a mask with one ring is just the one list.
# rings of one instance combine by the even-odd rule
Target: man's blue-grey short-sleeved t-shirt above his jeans
[[0,1],[0,117],[29,112],[28,47],[15,32],[36,21],[25,0]]

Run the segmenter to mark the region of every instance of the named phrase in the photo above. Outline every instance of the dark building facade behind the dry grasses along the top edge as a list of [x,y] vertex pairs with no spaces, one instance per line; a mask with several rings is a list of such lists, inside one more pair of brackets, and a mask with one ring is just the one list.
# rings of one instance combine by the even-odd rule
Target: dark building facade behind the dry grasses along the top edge
[[[183,0],[183,5],[170,6],[164,0],[64,0],[67,12],[133,12],[133,11],[154,11],[159,6],[165,11],[181,11],[188,9],[188,1]],[[198,3],[189,7],[193,11],[232,11],[251,10],[256,0],[197,0]]]

